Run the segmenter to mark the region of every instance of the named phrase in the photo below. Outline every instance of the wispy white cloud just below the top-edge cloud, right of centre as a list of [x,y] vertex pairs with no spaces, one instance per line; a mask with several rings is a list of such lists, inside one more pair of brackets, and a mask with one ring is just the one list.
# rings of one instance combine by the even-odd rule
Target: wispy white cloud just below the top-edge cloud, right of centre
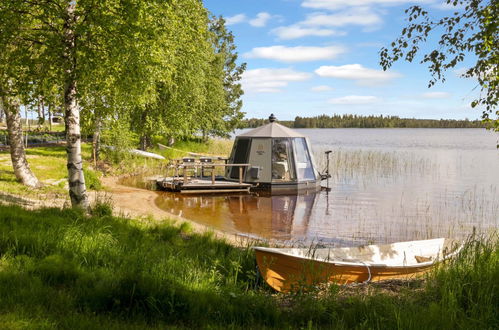
[[352,8],[335,14],[313,13],[300,22],[306,26],[339,27],[345,25],[373,26],[383,22],[381,16],[369,8]]

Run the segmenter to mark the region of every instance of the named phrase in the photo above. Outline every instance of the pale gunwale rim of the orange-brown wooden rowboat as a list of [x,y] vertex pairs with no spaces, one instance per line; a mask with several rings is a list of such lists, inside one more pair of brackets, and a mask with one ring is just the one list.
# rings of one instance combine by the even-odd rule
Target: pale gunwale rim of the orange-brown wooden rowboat
[[[408,241],[408,242],[394,242],[394,243],[391,243],[391,244],[381,244],[381,245],[376,245],[376,244],[373,244],[373,245],[365,245],[365,246],[362,246],[364,248],[368,248],[368,247],[371,247],[371,246],[376,246],[376,247],[380,247],[380,246],[387,246],[387,245],[392,245],[392,244],[396,244],[396,243],[412,243],[412,242],[423,242],[423,241],[431,241],[431,240],[437,240],[437,239],[444,239],[444,242],[447,238],[435,238],[435,239],[429,239],[429,240],[418,240],[418,241]],[[459,243],[459,241],[457,240],[452,240],[453,242],[456,242],[456,243]],[[352,247],[352,248],[355,248]],[[356,267],[383,267],[383,268],[401,268],[401,269],[407,269],[407,268],[420,268],[420,267],[426,267],[426,266],[431,266],[433,264],[436,264],[437,262],[442,262],[444,260],[447,260],[449,258],[452,258],[454,257],[456,254],[458,254],[461,249],[463,248],[463,244],[460,243],[458,245],[458,247],[451,253],[449,254],[446,254],[442,259],[435,259],[435,260],[431,260],[431,261],[425,261],[425,262],[421,262],[421,263],[417,263],[417,264],[411,264],[411,265],[402,265],[402,266],[399,266],[399,265],[388,265],[388,264],[381,264],[381,263],[369,263],[369,262],[353,262],[353,261],[342,261],[342,260],[335,260],[335,259],[331,259],[331,260],[325,260],[325,259],[316,259],[314,257],[307,257],[307,256],[300,256],[300,255],[296,255],[296,254],[292,254],[292,253],[289,253],[289,252],[284,252],[284,251],[279,251],[280,249],[279,248],[271,248],[271,247],[263,247],[263,246],[253,246],[252,249],[253,250],[256,250],[256,251],[262,251],[262,252],[268,252],[268,253],[274,253],[274,254],[280,254],[280,255],[285,255],[285,256],[289,256],[289,257],[293,257],[293,258],[297,258],[297,259],[303,259],[303,260],[308,260],[308,261],[315,261],[315,262],[323,262],[323,263],[327,263],[327,264],[331,264],[331,265],[338,265],[338,266],[356,266]],[[308,249],[308,248],[303,248],[303,249]],[[334,250],[334,249],[341,249],[341,248],[330,248],[330,250]]]

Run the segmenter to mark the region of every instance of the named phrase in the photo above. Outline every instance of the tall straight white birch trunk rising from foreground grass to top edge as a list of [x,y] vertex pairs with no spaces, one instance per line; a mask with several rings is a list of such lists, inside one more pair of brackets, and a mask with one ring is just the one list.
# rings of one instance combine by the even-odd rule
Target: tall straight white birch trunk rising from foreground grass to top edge
[[64,58],[66,60],[64,119],[66,123],[68,183],[71,205],[88,209],[88,196],[81,157],[80,109],[77,103],[75,6],[75,1],[68,4],[66,7],[66,21],[64,22]]

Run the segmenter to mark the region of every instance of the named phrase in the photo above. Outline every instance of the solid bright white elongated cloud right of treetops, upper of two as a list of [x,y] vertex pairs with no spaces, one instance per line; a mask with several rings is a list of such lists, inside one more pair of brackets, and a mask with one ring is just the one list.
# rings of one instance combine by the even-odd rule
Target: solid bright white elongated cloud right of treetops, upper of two
[[329,47],[256,47],[243,56],[246,58],[265,58],[282,62],[306,62],[334,59],[346,50],[340,46]]

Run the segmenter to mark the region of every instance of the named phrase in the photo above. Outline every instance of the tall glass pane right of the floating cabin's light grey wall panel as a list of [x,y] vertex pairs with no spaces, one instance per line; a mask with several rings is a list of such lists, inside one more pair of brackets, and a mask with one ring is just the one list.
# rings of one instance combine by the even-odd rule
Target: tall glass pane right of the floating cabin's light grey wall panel
[[289,139],[272,140],[272,182],[296,180]]

